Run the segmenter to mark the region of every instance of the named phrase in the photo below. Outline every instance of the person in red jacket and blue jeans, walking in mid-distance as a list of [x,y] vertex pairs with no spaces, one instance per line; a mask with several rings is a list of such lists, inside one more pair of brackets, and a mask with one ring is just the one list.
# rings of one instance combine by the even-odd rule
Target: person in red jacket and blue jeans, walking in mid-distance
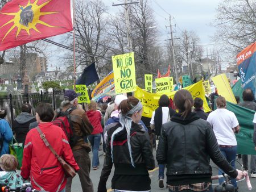
[[90,101],[90,104],[88,105],[89,110],[86,111],[86,115],[93,126],[93,132],[88,136],[88,139],[93,148],[92,166],[94,170],[98,169],[98,165],[100,164],[100,161],[98,160],[98,148],[100,148],[101,133],[103,132],[101,126],[101,112],[97,111],[96,108],[97,103]]

